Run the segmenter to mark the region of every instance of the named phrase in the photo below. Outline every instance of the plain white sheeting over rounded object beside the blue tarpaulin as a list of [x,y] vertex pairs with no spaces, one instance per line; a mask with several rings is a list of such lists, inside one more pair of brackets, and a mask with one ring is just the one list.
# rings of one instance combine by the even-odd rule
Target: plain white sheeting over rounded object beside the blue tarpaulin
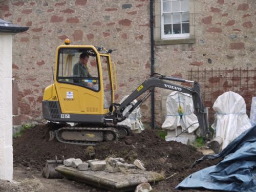
[[212,107],[215,114],[215,122],[212,128],[216,131],[216,137],[223,139],[222,150],[236,137],[251,127],[246,115],[246,104],[241,95],[234,92],[225,92],[220,95]]

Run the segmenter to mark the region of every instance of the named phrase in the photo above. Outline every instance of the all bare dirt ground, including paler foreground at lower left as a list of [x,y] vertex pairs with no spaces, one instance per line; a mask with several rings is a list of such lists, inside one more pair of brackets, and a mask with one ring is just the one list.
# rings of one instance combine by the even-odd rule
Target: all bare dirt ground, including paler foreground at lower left
[[127,163],[139,159],[144,163],[146,170],[164,174],[165,178],[169,177],[152,185],[153,191],[161,192],[177,191],[174,189],[175,186],[185,177],[220,161],[203,161],[192,168],[191,165],[195,160],[203,156],[201,152],[190,145],[175,141],[166,142],[151,129],[121,138],[119,141],[96,145],[95,156],[89,157],[86,153],[87,146],[64,144],[55,139],[49,141],[49,130],[53,127],[56,127],[56,124],[36,125],[13,140],[13,180],[19,184],[0,181],[0,191],[108,191],[67,179],[43,178],[42,168],[47,160],[54,160],[55,156],[58,159],[64,156],[65,159],[80,158],[83,161],[92,158],[105,159],[110,156],[122,157]]

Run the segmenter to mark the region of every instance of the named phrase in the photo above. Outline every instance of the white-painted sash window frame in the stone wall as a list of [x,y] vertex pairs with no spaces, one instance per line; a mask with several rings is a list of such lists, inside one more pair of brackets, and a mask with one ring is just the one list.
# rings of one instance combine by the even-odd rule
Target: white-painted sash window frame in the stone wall
[[[180,4],[180,10],[179,11],[173,11],[170,10],[170,11],[163,11],[163,2],[178,2],[179,1],[179,4]],[[181,38],[189,38],[190,36],[190,33],[182,33],[182,24],[189,24],[189,30],[190,30],[190,19],[188,22],[182,22],[182,19],[180,17],[180,25],[181,25],[181,33],[179,34],[173,34],[173,31],[171,34],[164,34],[164,14],[173,14],[173,13],[180,13],[180,15],[184,12],[188,12],[188,14],[190,14],[189,12],[189,7],[188,7],[188,10],[185,10],[185,11],[181,11],[181,1],[183,0],[161,0],[161,39],[181,39]],[[187,5],[189,6],[189,4]],[[173,17],[172,17],[172,22],[169,23],[170,25],[172,25],[172,29],[173,29]]]

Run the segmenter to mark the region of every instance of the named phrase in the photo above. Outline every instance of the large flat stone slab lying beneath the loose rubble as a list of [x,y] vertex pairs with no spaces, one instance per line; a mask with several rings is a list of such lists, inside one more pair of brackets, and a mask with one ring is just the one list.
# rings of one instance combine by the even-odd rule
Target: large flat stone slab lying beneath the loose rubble
[[60,165],[55,168],[62,176],[83,183],[104,188],[114,192],[134,191],[140,183],[156,183],[164,177],[155,172],[146,172],[140,169],[127,169],[125,173],[92,170],[79,171],[73,167]]

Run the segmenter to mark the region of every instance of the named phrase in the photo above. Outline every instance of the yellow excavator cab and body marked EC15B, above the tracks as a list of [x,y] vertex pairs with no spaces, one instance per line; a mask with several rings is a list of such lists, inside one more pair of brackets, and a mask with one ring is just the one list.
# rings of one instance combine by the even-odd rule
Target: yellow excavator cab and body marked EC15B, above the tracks
[[[45,89],[42,101],[44,118],[55,122],[103,123],[116,90],[111,52],[94,46],[59,46],[54,83]],[[82,53],[89,56],[88,76],[74,70]],[[89,87],[89,83],[93,86]]]

